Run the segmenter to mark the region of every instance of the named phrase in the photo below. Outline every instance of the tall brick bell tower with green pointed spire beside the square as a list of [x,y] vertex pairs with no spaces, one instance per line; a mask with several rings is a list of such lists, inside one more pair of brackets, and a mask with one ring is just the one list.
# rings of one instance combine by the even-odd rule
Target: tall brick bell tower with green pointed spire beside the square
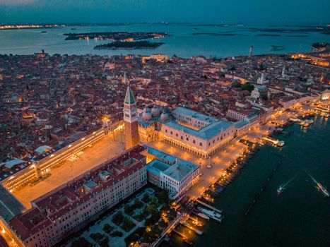
[[136,101],[129,85],[124,100],[124,124],[126,150],[128,150],[139,143],[139,123]]

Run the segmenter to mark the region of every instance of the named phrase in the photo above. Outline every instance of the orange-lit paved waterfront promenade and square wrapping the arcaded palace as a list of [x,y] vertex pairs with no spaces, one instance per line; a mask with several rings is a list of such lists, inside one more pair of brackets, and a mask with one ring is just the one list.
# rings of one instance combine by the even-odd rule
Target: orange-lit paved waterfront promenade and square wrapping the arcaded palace
[[[235,138],[235,140],[233,140],[222,150],[216,152],[216,154],[212,155],[209,159],[201,158],[197,155],[191,154],[190,152],[186,152],[179,147],[174,147],[168,143],[165,143],[164,141],[155,141],[149,145],[189,162],[201,164],[202,175],[199,176],[197,183],[195,183],[194,186],[189,188],[187,191],[187,195],[190,198],[196,199],[199,198],[204,191],[206,191],[208,186],[216,182],[216,180],[224,174],[225,169],[227,169],[230,164],[237,159],[237,157],[242,155],[242,153],[247,150],[247,145],[240,143],[242,138],[249,140],[252,143],[257,143],[259,138],[274,131],[276,128],[276,123],[286,123],[290,117],[302,116],[310,109],[312,109],[312,107],[306,104],[297,104],[294,109],[290,110],[290,112],[285,112],[278,109],[271,115],[271,118],[266,124],[258,124],[244,135]],[[296,113],[293,113],[293,111]],[[212,167],[208,168],[207,164],[210,163]]]

